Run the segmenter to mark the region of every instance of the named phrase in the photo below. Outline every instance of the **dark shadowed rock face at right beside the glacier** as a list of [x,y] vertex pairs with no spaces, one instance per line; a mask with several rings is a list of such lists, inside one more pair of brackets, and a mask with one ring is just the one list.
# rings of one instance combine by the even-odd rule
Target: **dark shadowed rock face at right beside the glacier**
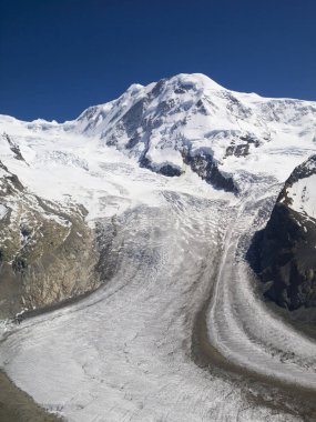
[[315,164],[316,155],[313,155],[294,170],[266,228],[256,235],[252,247],[256,257],[253,267],[262,281],[268,283],[265,295],[289,310],[316,307],[316,220],[293,210],[287,193],[298,180],[316,174]]

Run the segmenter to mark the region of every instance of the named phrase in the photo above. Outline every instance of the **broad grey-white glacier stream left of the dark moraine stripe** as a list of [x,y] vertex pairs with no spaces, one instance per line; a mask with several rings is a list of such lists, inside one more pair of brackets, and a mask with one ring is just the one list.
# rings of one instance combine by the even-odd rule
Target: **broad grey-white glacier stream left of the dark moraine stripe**
[[[140,175],[139,169],[125,174]],[[269,400],[274,405],[284,400],[278,390],[265,402],[258,388],[261,404],[254,404],[254,386],[231,380],[225,371],[213,373],[212,361],[211,373],[192,362],[193,353],[200,353],[193,352],[196,312],[214,285],[227,221],[236,215],[235,199],[216,198],[212,190],[201,197],[181,192],[175,179],[166,188],[163,177],[149,178],[156,190],[155,205],[137,205],[115,219],[114,277],[73,307],[14,328],[1,344],[0,363],[37,402],[73,422],[298,421],[290,405],[278,413],[269,409]],[[241,297],[236,303],[234,290],[225,287],[232,301],[217,303],[210,326],[216,323],[236,340],[233,320],[222,320],[222,307],[233,311]],[[253,300],[249,293],[246,298]],[[263,319],[256,322],[254,329],[264,332]],[[261,349],[254,349],[245,334],[241,343],[245,350],[234,350],[235,355],[255,352],[253,362],[265,371]],[[264,356],[269,364],[269,353]],[[273,360],[283,373],[279,358]],[[306,374],[303,371],[302,379]]]

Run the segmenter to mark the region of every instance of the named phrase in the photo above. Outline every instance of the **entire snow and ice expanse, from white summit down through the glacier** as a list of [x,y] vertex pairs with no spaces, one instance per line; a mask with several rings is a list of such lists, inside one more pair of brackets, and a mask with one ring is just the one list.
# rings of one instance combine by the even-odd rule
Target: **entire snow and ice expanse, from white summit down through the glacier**
[[[267,308],[244,259],[315,130],[316,103],[201,74],[132,86],[62,124],[0,117],[23,157],[2,137],[0,160],[38,195],[83,204],[113,269],[72,305],[2,323],[0,366],[73,422],[315,420],[316,342]],[[185,153],[210,154],[238,194]],[[309,180],[293,207],[315,218],[315,195],[298,194]]]

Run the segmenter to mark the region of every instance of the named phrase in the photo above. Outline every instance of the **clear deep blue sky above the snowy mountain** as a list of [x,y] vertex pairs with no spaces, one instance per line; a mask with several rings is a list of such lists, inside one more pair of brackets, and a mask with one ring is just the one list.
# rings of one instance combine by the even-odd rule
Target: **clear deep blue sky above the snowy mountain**
[[181,72],[316,100],[315,0],[0,0],[0,113],[75,118]]

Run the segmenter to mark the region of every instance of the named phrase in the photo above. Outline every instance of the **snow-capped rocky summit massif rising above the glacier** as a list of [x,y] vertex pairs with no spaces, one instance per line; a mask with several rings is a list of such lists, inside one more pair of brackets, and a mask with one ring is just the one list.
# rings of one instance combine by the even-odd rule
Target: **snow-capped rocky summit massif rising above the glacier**
[[132,86],[64,129],[96,135],[162,174],[180,175],[191,167],[218,187],[225,180],[216,177],[233,177],[226,188],[237,190],[245,172],[284,180],[293,155],[315,150],[315,125],[313,102],[263,99],[226,90],[203,74],[180,74]]

